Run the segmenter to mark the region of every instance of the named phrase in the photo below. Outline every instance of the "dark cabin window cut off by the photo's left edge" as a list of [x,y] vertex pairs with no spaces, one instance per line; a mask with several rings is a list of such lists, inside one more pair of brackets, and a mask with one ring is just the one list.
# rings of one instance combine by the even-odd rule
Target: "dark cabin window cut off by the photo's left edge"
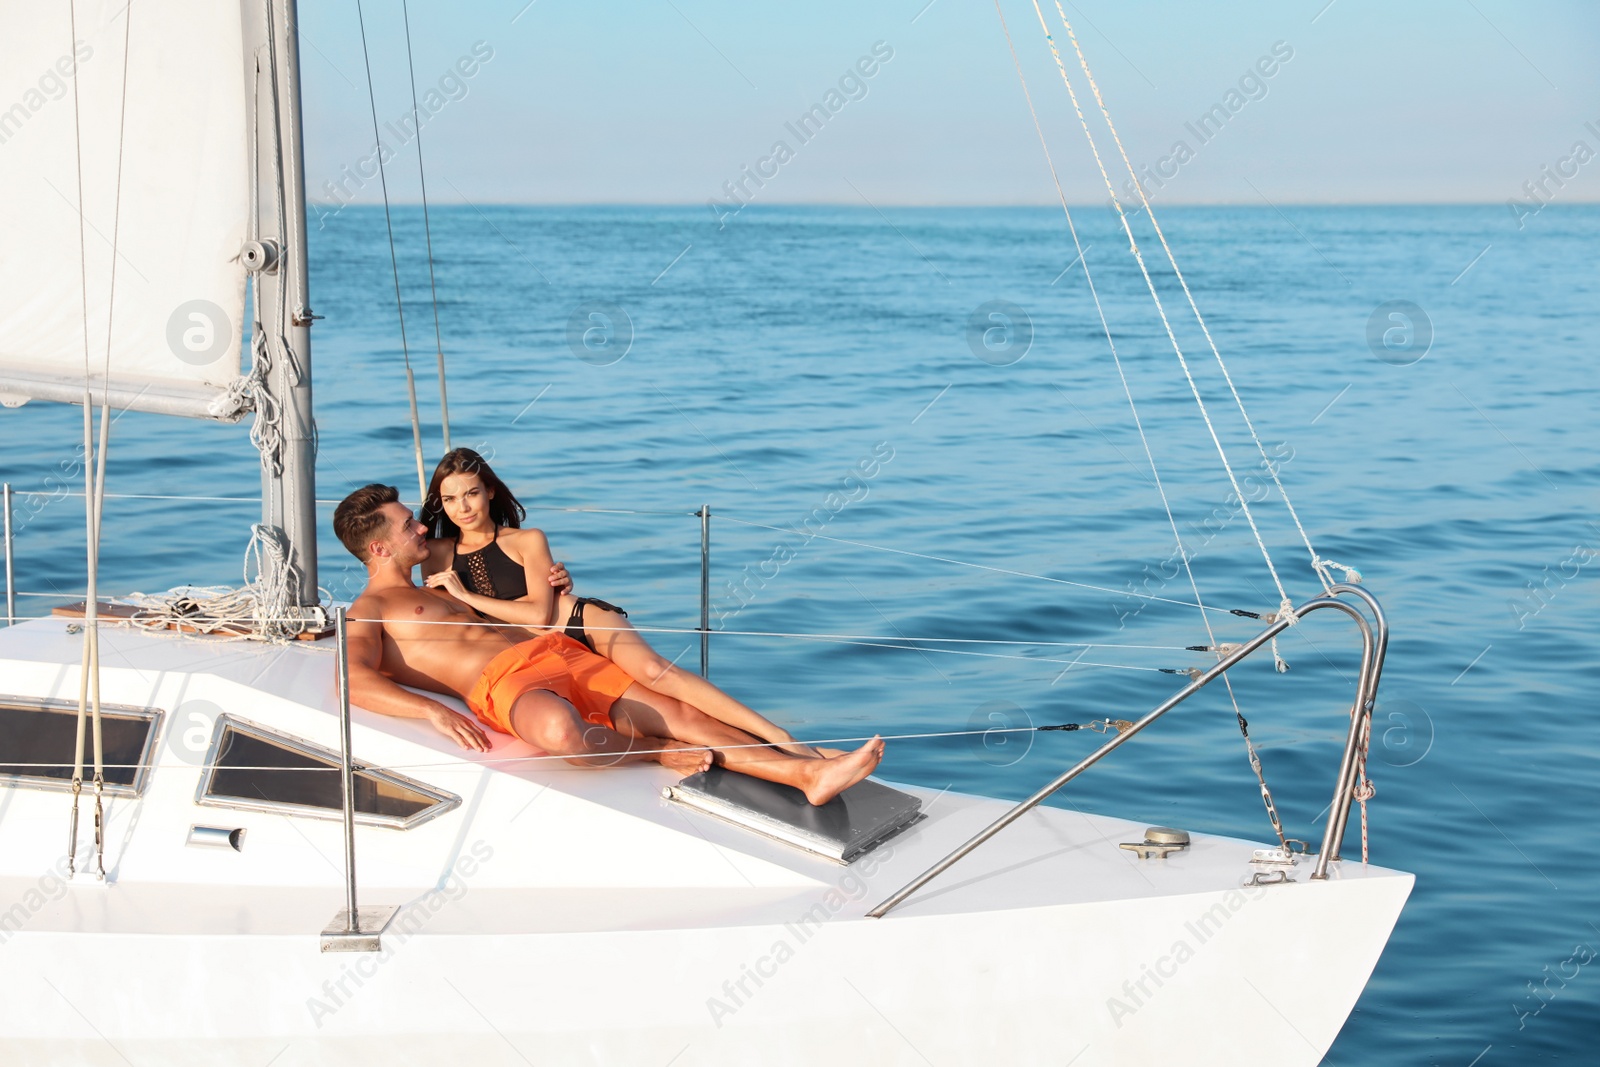
[[[162,712],[154,707],[101,704],[101,741],[106,792],[139,797],[150,777],[150,753],[160,736]],[[0,785],[72,789],[72,744],[77,739],[75,701],[0,697]],[[94,776],[94,741],[83,731],[85,782]]]

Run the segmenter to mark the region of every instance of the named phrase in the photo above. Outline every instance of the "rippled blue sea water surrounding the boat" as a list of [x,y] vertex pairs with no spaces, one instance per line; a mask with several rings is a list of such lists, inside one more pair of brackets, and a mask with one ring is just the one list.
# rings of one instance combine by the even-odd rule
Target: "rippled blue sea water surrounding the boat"
[[[1165,211],[1259,450],[1146,218],[1149,283],[1102,208],[1075,211],[1082,256],[1045,208],[430,222],[432,286],[419,210],[395,214],[405,347],[381,210],[312,232],[318,496],[416,499],[405,358],[432,467],[437,290],[451,443],[491,459],[579,592],[698,669],[709,506],[712,678],[800,737],[970,731],[891,741],[891,779],[1026,797],[1101,736],[1014,728],[1136,718],[1211,662],[1187,646],[1258,632],[1229,609],[1312,597],[1277,472],[1315,550],[1389,613],[1371,857],[1416,873],[1330,1062],[1592,1062],[1600,211]],[[24,590],[83,587],[78,440],[75,410],[0,413],[3,477],[34,493]],[[114,494],[258,486],[243,426],[112,434]],[[254,515],[114,498],[102,587],[237,582]],[[318,555],[352,597],[326,528]],[[1280,653],[1286,673],[1262,653],[1229,677],[1286,832],[1317,840],[1358,645],[1317,613]],[[1274,840],[1222,686],[1051,803]]]

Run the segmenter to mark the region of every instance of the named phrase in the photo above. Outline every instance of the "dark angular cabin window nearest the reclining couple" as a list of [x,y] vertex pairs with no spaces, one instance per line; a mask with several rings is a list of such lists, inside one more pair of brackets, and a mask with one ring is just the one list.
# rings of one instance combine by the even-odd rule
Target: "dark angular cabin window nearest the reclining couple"
[[[195,803],[341,819],[339,753],[234,715],[221,715]],[[355,761],[357,822],[410,830],[459,803],[461,797],[454,793]]]

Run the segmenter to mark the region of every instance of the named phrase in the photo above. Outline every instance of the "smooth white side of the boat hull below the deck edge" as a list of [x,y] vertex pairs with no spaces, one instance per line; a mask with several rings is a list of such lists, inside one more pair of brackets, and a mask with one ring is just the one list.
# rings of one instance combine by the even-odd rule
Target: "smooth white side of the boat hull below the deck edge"
[[[424,926],[390,933],[379,955],[320,955],[315,931],[22,931],[3,949],[0,1057],[1315,1064],[1410,885],[1355,878],[816,926],[798,921],[797,901],[787,925],[720,929]],[[58,907],[82,893],[96,891]]]

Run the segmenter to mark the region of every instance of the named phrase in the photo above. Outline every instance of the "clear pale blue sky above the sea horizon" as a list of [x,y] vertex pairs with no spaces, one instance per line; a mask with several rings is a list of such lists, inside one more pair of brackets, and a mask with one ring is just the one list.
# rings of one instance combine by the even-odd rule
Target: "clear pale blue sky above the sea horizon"
[[[437,93],[422,130],[435,202],[704,205],[746,166],[771,174],[758,203],[1054,198],[992,0],[525,2],[411,2],[418,88]],[[1069,195],[1104,200],[1032,0],[1002,6]],[[1053,0],[1040,8],[1054,22]],[[1162,202],[1501,203],[1544,166],[1568,173],[1549,195],[1600,198],[1600,158],[1571,155],[1578,141],[1600,152],[1590,0],[1064,8],[1131,158],[1170,174]],[[365,13],[378,115],[398,126],[400,3]],[[325,182],[373,146],[355,0],[304,2],[301,16],[307,192],[331,200]],[[853,80],[878,42],[893,58]],[[1290,58],[1272,62],[1275,46]],[[802,142],[789,125],[842,78],[837,114]],[[1218,104],[1226,122],[1197,128]],[[390,192],[416,190],[403,152]],[[376,200],[376,182],[344,178],[339,195]]]

